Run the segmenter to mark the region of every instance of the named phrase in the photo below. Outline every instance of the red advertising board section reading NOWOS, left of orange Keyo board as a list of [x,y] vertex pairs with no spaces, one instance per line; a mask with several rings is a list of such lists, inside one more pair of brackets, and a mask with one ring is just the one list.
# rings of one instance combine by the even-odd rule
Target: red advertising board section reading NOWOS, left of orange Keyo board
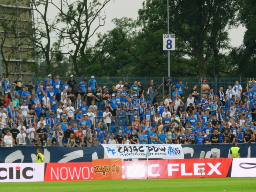
[[92,180],[92,163],[47,163],[44,181]]

